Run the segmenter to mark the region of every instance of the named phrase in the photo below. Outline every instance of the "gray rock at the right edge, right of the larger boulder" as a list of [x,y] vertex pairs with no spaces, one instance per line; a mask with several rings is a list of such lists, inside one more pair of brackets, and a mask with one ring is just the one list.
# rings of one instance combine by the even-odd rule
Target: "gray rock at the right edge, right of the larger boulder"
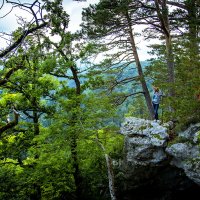
[[166,148],[172,156],[171,164],[182,168],[185,174],[200,185],[200,123],[179,133],[181,142]]

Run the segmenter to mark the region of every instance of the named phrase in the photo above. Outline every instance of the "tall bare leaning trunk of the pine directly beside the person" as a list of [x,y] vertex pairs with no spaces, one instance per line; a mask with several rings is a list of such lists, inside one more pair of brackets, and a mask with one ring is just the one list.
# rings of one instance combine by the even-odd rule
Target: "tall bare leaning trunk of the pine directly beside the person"
[[151,96],[150,96],[149,90],[147,88],[147,84],[146,84],[145,77],[144,77],[144,74],[143,74],[142,66],[141,66],[141,63],[140,63],[139,56],[138,56],[138,52],[137,52],[137,48],[136,48],[136,44],[135,44],[135,39],[134,39],[134,35],[133,35],[133,30],[132,30],[131,19],[129,17],[128,12],[126,13],[126,19],[127,19],[127,22],[128,22],[128,32],[129,32],[130,43],[131,43],[131,47],[132,47],[132,51],[133,51],[133,56],[134,56],[134,59],[135,59],[137,70],[138,70],[138,75],[140,77],[140,83],[141,83],[141,86],[142,86],[142,89],[143,89],[143,92],[144,92],[146,105],[147,105],[147,108],[149,110],[149,116],[150,116],[151,119],[154,119],[154,111],[153,111]]

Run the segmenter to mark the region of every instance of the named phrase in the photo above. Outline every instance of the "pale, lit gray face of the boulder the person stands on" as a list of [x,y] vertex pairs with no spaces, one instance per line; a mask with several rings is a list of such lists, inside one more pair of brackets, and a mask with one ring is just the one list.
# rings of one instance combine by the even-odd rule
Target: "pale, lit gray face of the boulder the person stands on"
[[133,167],[160,165],[166,159],[167,128],[159,123],[129,117],[122,124],[125,135],[125,161]]

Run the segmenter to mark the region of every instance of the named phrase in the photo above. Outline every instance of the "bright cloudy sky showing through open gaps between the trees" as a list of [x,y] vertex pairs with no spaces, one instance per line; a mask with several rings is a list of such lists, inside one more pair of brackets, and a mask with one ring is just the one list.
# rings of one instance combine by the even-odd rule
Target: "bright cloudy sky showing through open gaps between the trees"
[[[19,0],[15,0],[16,2]],[[0,7],[1,7],[1,2],[0,0]],[[20,0],[21,3],[24,2],[34,2],[34,0]],[[87,2],[82,1],[82,2],[76,2],[73,0],[63,0],[63,7],[66,10],[66,12],[70,15],[70,22],[69,22],[69,30],[72,32],[75,32],[80,28],[80,23],[81,23],[81,13],[82,9],[85,7],[88,7],[89,4],[94,4],[98,3],[99,0],[87,0]],[[17,27],[17,17],[23,16],[27,20],[31,20],[30,16],[28,15],[27,12],[20,10],[19,8],[14,8],[10,14],[2,18],[4,15],[6,15],[9,11],[11,10],[11,6],[4,6],[0,10],[0,32],[12,32],[14,31]],[[137,30],[140,31],[140,30]],[[150,55],[148,54],[148,51],[150,50],[147,45],[148,42],[144,40],[144,38],[140,37],[136,39],[136,43],[138,46],[138,53],[140,60],[147,60],[150,58]],[[0,47],[6,46],[6,41],[2,40],[0,38]]]

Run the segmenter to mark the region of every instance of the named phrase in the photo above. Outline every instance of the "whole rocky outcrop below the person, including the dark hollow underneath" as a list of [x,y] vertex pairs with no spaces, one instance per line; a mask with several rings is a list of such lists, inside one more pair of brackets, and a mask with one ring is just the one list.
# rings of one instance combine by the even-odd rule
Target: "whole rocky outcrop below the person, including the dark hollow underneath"
[[121,199],[188,199],[200,195],[200,123],[170,141],[171,124],[126,118]]

